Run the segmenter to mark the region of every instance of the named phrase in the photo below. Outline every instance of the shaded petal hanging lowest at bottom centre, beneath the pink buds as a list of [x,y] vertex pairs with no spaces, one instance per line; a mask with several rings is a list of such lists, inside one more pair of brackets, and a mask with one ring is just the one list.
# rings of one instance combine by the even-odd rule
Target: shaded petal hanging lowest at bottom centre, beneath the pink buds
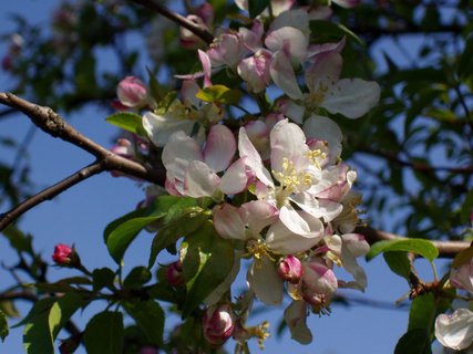
[[307,309],[305,301],[292,301],[285,310],[284,317],[290,331],[290,337],[300,344],[312,342],[312,333],[307,326]]

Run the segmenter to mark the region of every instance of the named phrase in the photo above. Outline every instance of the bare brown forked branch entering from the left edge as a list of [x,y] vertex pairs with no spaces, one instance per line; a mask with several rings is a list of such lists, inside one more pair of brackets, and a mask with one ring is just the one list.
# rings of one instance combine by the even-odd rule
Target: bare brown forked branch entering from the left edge
[[34,206],[50,200],[64,191],[65,189],[79,184],[80,181],[92,177],[105,170],[117,170],[150,183],[163,185],[164,171],[153,169],[150,166],[143,166],[136,162],[130,160],[122,156],[115,155],[103,146],[89,139],[75,131],[58,113],[49,107],[35,105],[22,100],[11,93],[0,93],[0,104],[8,105],[12,108],[23,112],[30,117],[34,125],[53,137],[59,137],[69,142],[81,149],[95,156],[96,162],[51,186],[35,196],[24,200],[10,211],[0,216],[0,231],[10,225],[14,219],[30,210]]

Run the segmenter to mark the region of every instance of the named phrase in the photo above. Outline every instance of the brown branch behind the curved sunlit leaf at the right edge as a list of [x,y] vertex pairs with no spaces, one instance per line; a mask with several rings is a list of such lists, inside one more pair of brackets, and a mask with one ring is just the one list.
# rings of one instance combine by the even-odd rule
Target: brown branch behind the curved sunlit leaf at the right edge
[[[367,241],[370,244],[373,244],[378,241],[383,240],[395,240],[395,239],[402,239],[402,236],[376,230],[370,227],[359,227],[356,230],[357,232],[364,235],[367,238]],[[460,251],[465,250],[470,247],[470,242],[465,241],[431,241],[438,249],[439,249],[439,257],[441,258],[453,258],[455,257]]]

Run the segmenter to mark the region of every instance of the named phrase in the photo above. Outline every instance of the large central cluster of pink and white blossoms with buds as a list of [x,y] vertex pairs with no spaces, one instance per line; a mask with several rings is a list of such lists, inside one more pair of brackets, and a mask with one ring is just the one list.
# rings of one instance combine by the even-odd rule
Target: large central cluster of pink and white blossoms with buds
[[[271,21],[261,14],[237,31],[217,29],[214,42],[198,50],[203,71],[178,76],[179,95],[153,97],[131,76],[117,90],[120,107],[146,110],[143,131],[162,150],[167,194],[205,200],[216,237],[234,246],[235,271],[206,300],[203,334],[212,345],[232,335],[239,342],[267,336],[267,324],[245,327],[244,311],[234,311],[238,306],[222,296],[232,290],[243,260],[250,263],[246,279],[251,299],[267,305],[281,304],[285,292],[292,299],[285,320],[304,344],[312,339],[308,312],[329,313],[339,288],[367,287],[357,262],[369,251],[364,237],[354,233],[360,196],[351,187],[357,171],[341,162],[342,132],[329,116],[361,117],[377,104],[380,88],[374,82],[340,77],[345,38],[311,44],[310,20],[329,15],[327,8],[271,3]],[[188,20],[209,30],[213,15],[205,3]],[[181,31],[181,42],[185,48],[204,45],[188,30]],[[214,85],[217,73],[238,85]],[[270,102],[265,94],[275,90],[280,96]],[[229,97],[234,91],[246,92],[260,111],[243,108],[244,117],[236,119],[228,108],[241,108]],[[126,142],[115,149],[133,158]],[[182,267],[182,260],[167,267],[172,287],[185,281]],[[337,268],[352,279],[338,279]]]

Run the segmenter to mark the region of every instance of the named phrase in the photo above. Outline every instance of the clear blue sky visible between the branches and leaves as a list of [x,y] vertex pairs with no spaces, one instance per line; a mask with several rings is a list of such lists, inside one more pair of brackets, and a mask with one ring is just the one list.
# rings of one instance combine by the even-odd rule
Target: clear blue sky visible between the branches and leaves
[[[59,1],[18,0],[3,3],[0,13],[0,33],[12,30],[9,13],[22,13],[37,23],[47,25],[47,19]],[[27,11],[25,11],[27,9]],[[0,56],[6,46],[0,46]],[[142,70],[143,71],[143,70]],[[0,91],[8,91],[9,77],[0,71]],[[40,103],[41,104],[41,103]],[[111,146],[112,138],[117,131],[109,125],[104,118],[106,113],[96,108],[89,108],[68,117],[71,124],[81,133],[95,142]],[[22,115],[14,115],[0,121],[0,137],[13,135],[18,139],[27,134],[31,123]],[[60,139],[37,132],[30,145],[29,154],[32,162],[31,177],[39,187],[49,186],[93,160],[91,156]],[[0,148],[1,160],[12,160],[13,152]],[[362,176],[360,176],[362,178]],[[143,191],[136,184],[126,178],[112,178],[104,174],[80,184],[64,194],[31,210],[22,220],[21,228],[34,236],[34,247],[50,259],[56,243],[75,244],[83,263],[93,269],[96,267],[113,267],[102,232],[107,222],[131,211],[143,199]],[[0,210],[4,211],[4,210]],[[130,270],[133,266],[147,260],[152,235],[143,233],[132,244],[125,256],[125,267]],[[0,262],[7,266],[16,261],[14,253],[3,238],[0,238]],[[168,259],[158,259],[165,263]],[[409,289],[407,283],[398,275],[391,273],[382,258],[362,264],[368,273],[369,285],[364,294],[347,291],[348,296],[364,300],[377,300],[393,303]],[[125,269],[125,272],[126,272]],[[425,262],[420,261],[421,274],[431,279],[431,272]],[[13,283],[12,278],[0,269],[2,289]],[[52,268],[51,279],[59,279],[66,274],[65,270]],[[105,304],[96,305],[96,311],[104,309]],[[23,304],[20,310],[27,311]],[[263,317],[271,323],[275,330],[282,316],[284,308],[266,312]],[[80,327],[86,323],[92,312],[83,316],[74,316]],[[11,321],[13,324],[16,321]],[[251,322],[251,321],[250,321]],[[256,322],[253,322],[256,323]],[[302,346],[291,341],[286,333],[281,340],[275,334],[266,343],[266,353],[317,353],[317,354],[357,354],[357,353],[392,353],[398,339],[404,333],[408,324],[408,311],[373,309],[370,306],[343,308],[335,305],[330,316],[318,317],[311,315],[308,320],[313,333],[313,342]],[[0,343],[1,353],[20,353],[22,329],[11,330],[3,344]],[[60,335],[64,337],[65,334]],[[230,350],[232,351],[232,350]],[[256,345],[253,353],[258,353]],[[78,353],[84,353],[83,348]]]

